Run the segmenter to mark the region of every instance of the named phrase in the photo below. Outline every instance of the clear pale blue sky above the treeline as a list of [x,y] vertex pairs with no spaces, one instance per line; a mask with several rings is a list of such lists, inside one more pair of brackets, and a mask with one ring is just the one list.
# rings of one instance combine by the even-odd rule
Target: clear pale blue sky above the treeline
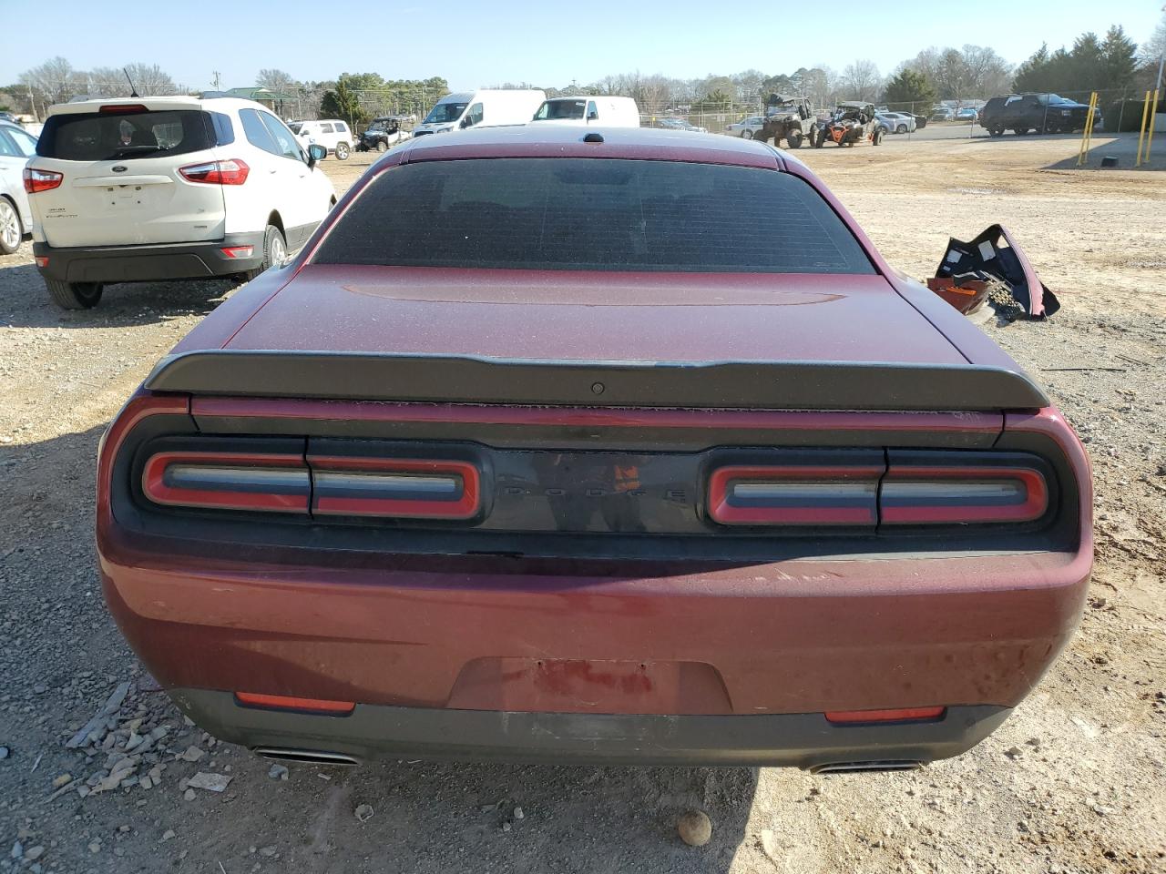
[[1070,44],[1115,23],[1140,42],[1163,1],[0,0],[0,85],[55,55],[80,70],[156,63],[191,89],[209,89],[215,70],[224,89],[253,85],[262,68],[311,80],[444,76],[454,89],[582,85],[635,70],[696,78],[824,63],[841,71],[858,58],[886,75],[929,45],[990,45],[1019,63],[1041,42]]

